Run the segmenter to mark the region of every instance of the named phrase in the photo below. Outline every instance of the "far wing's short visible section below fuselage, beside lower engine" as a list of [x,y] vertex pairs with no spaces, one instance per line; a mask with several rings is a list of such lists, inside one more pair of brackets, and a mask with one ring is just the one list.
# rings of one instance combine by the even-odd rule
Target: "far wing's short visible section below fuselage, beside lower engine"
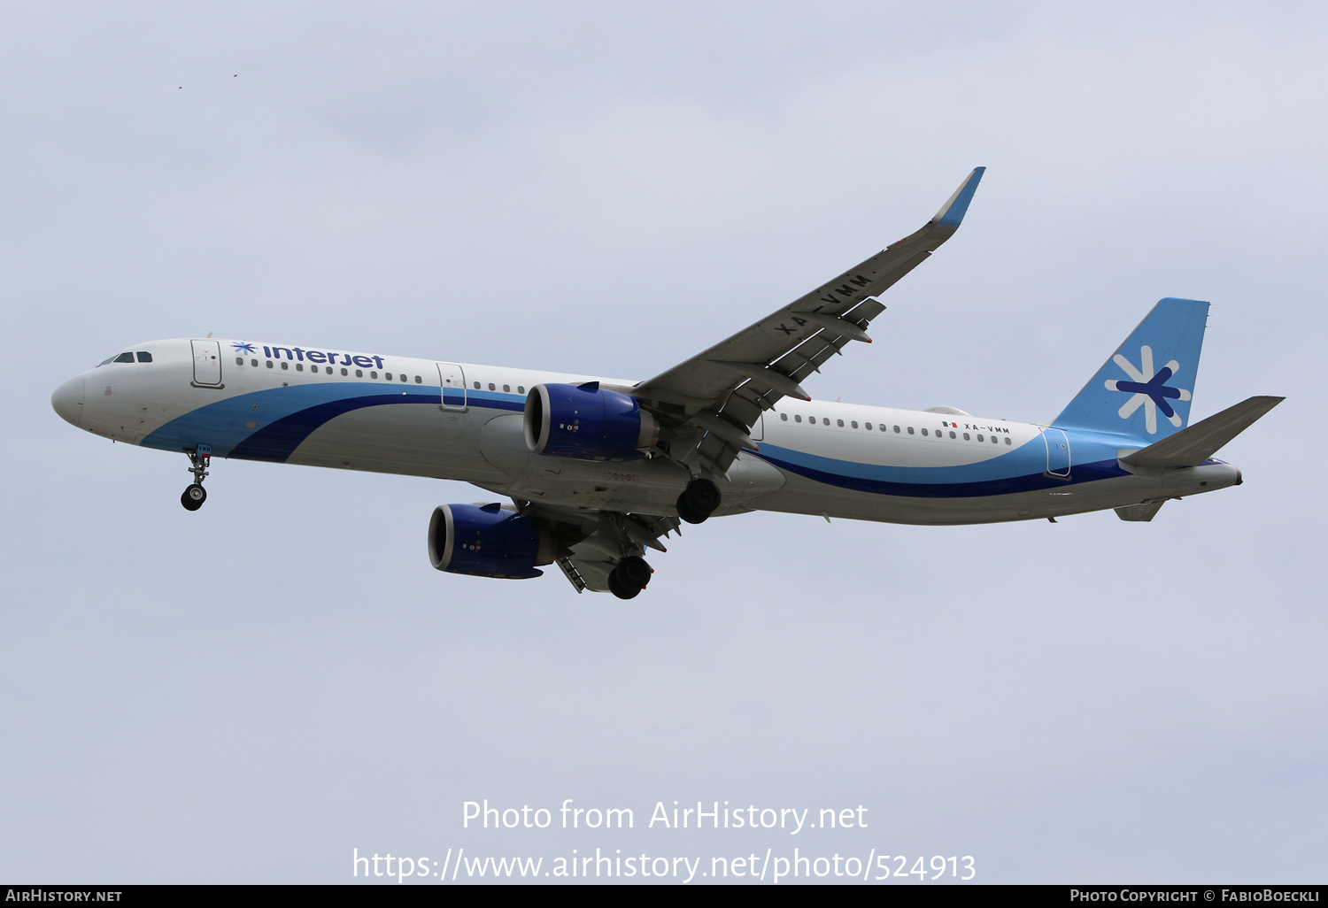
[[624,514],[592,507],[567,507],[518,500],[517,508],[533,516],[559,543],[555,564],[576,588],[608,591],[608,575],[625,555],[644,555],[647,548],[667,551],[661,536],[679,530],[676,516]]

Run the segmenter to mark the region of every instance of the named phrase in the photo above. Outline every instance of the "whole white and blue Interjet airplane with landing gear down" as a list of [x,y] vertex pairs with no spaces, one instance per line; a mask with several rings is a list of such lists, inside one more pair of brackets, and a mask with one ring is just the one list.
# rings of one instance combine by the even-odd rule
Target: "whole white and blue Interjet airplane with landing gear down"
[[52,396],[112,441],[183,453],[197,511],[211,458],[473,483],[509,502],[441,504],[438,571],[637,596],[645,551],[683,523],[782,511],[903,524],[1040,520],[1162,504],[1227,486],[1212,455],[1282,397],[1189,425],[1208,303],[1161,300],[1045,423],[951,406],[817,401],[802,382],[886,309],[880,295],[963,222],[975,169],[920,230],[653,378],[633,381],[186,337],[134,344]]

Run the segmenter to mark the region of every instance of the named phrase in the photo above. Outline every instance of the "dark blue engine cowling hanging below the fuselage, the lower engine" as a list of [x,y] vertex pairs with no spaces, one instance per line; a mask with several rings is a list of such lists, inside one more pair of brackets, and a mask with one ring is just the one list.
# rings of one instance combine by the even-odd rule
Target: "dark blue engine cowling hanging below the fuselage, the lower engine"
[[527,516],[499,504],[440,504],[429,520],[429,560],[440,571],[525,580],[543,576],[555,544]]

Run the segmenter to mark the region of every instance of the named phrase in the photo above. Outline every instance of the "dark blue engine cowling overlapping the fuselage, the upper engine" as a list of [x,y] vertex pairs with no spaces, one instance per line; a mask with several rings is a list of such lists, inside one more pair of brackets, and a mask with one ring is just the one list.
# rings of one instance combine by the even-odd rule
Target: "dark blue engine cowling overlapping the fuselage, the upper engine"
[[659,439],[636,398],[584,385],[535,385],[526,397],[526,446],[546,457],[631,461]]

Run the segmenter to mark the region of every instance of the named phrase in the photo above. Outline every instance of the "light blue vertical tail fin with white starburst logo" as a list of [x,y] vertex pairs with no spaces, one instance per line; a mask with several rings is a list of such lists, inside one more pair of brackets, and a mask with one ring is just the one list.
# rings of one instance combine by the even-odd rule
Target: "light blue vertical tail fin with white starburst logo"
[[1166,438],[1190,421],[1208,304],[1158,301],[1052,425]]

